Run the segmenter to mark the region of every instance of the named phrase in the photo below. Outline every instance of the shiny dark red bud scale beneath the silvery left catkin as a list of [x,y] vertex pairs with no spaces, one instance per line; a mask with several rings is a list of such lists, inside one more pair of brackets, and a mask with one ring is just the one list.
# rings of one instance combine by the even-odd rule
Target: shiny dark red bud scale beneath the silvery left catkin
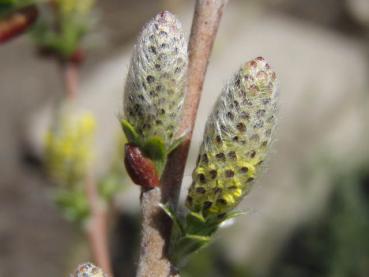
[[143,155],[134,144],[125,145],[124,164],[132,181],[144,189],[152,189],[160,184],[154,163]]

